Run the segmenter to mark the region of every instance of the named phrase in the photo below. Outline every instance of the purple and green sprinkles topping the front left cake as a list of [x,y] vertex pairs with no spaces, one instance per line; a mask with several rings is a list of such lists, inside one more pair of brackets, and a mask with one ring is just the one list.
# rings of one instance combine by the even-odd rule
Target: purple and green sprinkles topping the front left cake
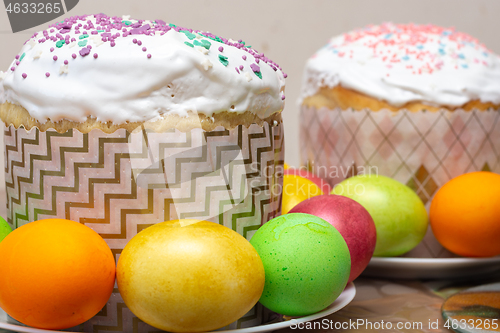
[[[217,45],[217,49],[219,52],[224,52],[224,49],[226,47],[234,47],[245,51],[245,53],[254,56],[255,63],[250,65],[250,68],[252,69],[254,74],[260,78],[262,78],[262,75],[261,75],[261,67],[257,65],[259,63],[261,64],[261,66],[263,63],[266,63],[275,71],[278,68],[281,70],[281,68],[277,64],[272,62],[270,59],[266,58],[264,54],[257,53],[254,49],[251,48],[250,45],[245,45],[245,42],[243,42],[241,39],[238,40],[238,42],[236,42],[231,39],[228,40],[216,36],[209,32],[185,29],[178,27],[175,24],[167,24],[162,20],[155,20],[154,22],[145,20],[135,21],[135,20],[129,20],[128,17],[125,16],[123,18],[118,18],[118,17],[108,17],[103,14],[94,15],[94,18],[95,19],[89,20],[88,16],[69,17],[62,22],[58,22],[56,24],[51,25],[51,29],[45,30],[42,33],[40,33],[40,36],[38,38],[36,38],[37,34],[35,34],[34,36],[31,37],[29,43],[32,43],[30,45],[31,47],[34,47],[37,43],[48,42],[50,44],[49,48],[51,52],[55,52],[57,48],[63,48],[65,45],[67,45],[66,47],[68,49],[73,48],[74,46],[78,46],[79,50],[77,51],[75,49],[75,53],[71,54],[72,59],[76,60],[78,58],[78,54],[82,57],[86,57],[87,55],[92,54],[93,57],[97,59],[98,53],[94,52],[91,53],[92,45],[94,46],[95,51],[97,51],[97,47],[105,43],[109,43],[111,47],[116,46],[116,43],[122,42],[122,37],[127,37],[130,35],[138,35],[136,37],[140,37],[140,35],[145,35],[145,36],[164,35],[168,31],[173,30],[176,33],[184,34],[186,38],[189,40],[184,42],[184,44],[192,48],[197,46],[196,49],[200,51],[203,55],[209,54],[210,48],[213,44],[213,42],[210,42],[210,40],[223,44],[223,45]],[[91,41],[90,43],[89,40]],[[129,41],[130,39],[127,39],[127,42]],[[142,47],[143,43],[138,38],[133,38],[133,43],[135,43],[138,46],[141,46],[143,52],[148,51],[145,46]],[[149,51],[151,52],[151,50]],[[33,54],[33,59],[40,58],[40,54],[41,52],[37,54],[37,52],[35,51]],[[485,57],[486,56],[487,55],[485,55]],[[15,65],[20,65],[20,61],[23,60],[24,57],[25,53],[23,53],[22,55],[16,55],[17,61],[15,61]],[[147,53],[146,57],[147,59],[151,59],[152,58],[151,53]],[[57,61],[58,56],[54,55],[52,59],[54,61]],[[68,58],[66,57],[66,59]],[[224,66],[227,67],[229,65],[229,59],[227,56],[218,54],[218,59],[219,62]],[[247,55],[242,55],[242,59],[247,60]],[[477,60],[475,63],[481,63],[481,60]],[[472,62],[472,60],[469,61]],[[67,72],[68,64],[69,61],[64,60],[64,65],[60,66],[61,67],[60,73],[68,73]],[[212,63],[209,61],[208,57],[205,57],[205,59],[202,61],[202,65],[206,70],[210,69],[213,66]],[[240,73],[240,71],[243,71],[245,66],[240,65],[233,68],[237,73]],[[12,71],[14,71],[15,69],[16,69],[15,66],[11,67]],[[250,72],[248,73],[241,72],[241,74],[245,74],[247,80],[249,81],[252,80],[252,78],[248,76],[251,75]],[[46,72],[45,75],[46,77],[49,77],[50,73]],[[23,73],[22,76],[23,78],[26,78],[27,73]],[[253,75],[251,76],[253,77]]]

